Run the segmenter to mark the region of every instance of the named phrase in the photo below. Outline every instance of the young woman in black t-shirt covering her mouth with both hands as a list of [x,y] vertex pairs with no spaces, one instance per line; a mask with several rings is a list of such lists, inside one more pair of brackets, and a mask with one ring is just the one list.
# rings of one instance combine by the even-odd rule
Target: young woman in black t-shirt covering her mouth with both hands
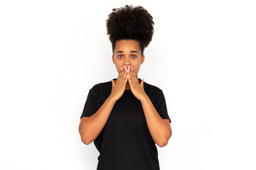
[[171,119],[163,91],[138,78],[154,33],[152,18],[142,6],[126,5],[107,19],[119,75],[92,86],[79,125],[82,142],[93,141],[100,152],[97,170],[160,169],[156,145],[167,145]]

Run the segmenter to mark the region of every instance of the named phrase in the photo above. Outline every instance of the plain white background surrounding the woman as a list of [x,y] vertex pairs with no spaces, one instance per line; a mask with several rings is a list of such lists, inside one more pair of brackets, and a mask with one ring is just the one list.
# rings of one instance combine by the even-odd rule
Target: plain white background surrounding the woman
[[255,1],[1,1],[0,169],[96,169],[78,125],[89,89],[117,78],[106,19],[154,19],[139,78],[164,91],[161,170],[256,169]]

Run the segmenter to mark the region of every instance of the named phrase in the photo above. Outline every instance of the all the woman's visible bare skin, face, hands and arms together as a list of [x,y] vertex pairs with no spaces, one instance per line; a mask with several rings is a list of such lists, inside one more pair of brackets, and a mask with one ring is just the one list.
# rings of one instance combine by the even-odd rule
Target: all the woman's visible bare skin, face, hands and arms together
[[[111,94],[95,114],[90,117],[83,117],[80,120],[79,132],[85,145],[89,145],[100,134],[107,123],[114,104],[124,94],[125,89],[131,89],[132,94],[141,101],[146,124],[154,142],[159,147],[167,145],[172,134],[171,125],[168,119],[162,119],[157,113],[144,91],[144,81],[142,80],[141,84],[139,84],[137,74],[140,65],[144,62],[144,55],[140,54],[141,50],[138,41],[120,40],[117,42],[112,59],[119,75],[116,81],[112,80]],[[125,69],[124,65],[128,69]],[[129,66],[131,69],[129,69]],[[121,70],[122,67],[123,69]]]

